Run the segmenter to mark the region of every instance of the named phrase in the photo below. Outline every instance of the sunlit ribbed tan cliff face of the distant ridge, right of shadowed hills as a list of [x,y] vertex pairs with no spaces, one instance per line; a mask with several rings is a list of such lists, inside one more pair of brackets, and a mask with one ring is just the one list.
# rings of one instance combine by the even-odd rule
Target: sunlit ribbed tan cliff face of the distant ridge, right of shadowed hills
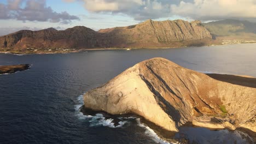
[[112,39],[113,46],[124,47],[168,47],[181,41],[212,39],[210,32],[201,25],[201,22],[189,23],[183,20],[147,20],[138,25],[101,29],[98,32]]

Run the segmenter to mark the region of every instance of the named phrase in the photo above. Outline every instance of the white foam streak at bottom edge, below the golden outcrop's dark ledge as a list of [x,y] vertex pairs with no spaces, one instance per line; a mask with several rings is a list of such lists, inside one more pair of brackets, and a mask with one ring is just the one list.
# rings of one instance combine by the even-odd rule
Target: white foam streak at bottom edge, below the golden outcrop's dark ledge
[[153,129],[150,129],[147,125],[141,123],[139,118],[136,118],[136,121],[137,121],[139,127],[142,127],[142,128],[146,129],[145,134],[148,135],[149,137],[151,137],[152,140],[154,140],[156,143],[173,144],[171,142],[168,142],[168,141],[165,141],[165,140],[161,139],[161,137],[159,137]]

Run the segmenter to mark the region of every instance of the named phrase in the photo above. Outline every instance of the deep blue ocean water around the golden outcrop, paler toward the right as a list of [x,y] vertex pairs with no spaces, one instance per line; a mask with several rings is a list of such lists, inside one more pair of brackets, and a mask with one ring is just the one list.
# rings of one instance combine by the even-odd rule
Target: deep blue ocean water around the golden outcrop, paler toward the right
[[[0,143],[164,143],[134,118],[113,128],[111,119],[83,116],[78,110],[83,104],[80,95],[153,57],[197,71],[256,77],[256,44],[23,56],[0,53],[0,65],[32,64],[29,70],[0,75]],[[212,135],[207,138],[212,143],[246,143],[227,130],[203,129],[204,135],[191,130],[181,131],[199,143],[205,143],[206,134]]]

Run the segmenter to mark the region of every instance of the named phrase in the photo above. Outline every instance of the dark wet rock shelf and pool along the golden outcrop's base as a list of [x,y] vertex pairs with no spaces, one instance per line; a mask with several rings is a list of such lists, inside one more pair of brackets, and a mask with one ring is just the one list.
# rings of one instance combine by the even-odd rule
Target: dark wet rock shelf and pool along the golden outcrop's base
[[[112,123],[114,123],[115,127],[119,125],[119,122],[124,121],[124,119],[129,119],[130,122],[136,122],[137,124],[140,122],[145,125],[145,127],[149,127],[154,130],[154,132],[159,136],[159,139],[170,143],[221,143],[223,141],[226,143],[254,143],[256,141],[254,132],[248,129],[207,129],[197,127],[188,122],[179,128],[179,132],[175,132],[162,129],[158,125],[147,121],[147,119],[132,113],[125,115],[112,115],[104,111],[94,111],[86,108],[84,105],[80,107],[80,111],[86,116],[96,116],[100,113],[105,119],[112,119]],[[136,119],[131,117],[136,119],[139,118],[139,121],[136,121]],[[214,139],[213,135],[214,137],[219,137],[219,139]],[[230,137],[232,137],[232,139],[230,139]]]

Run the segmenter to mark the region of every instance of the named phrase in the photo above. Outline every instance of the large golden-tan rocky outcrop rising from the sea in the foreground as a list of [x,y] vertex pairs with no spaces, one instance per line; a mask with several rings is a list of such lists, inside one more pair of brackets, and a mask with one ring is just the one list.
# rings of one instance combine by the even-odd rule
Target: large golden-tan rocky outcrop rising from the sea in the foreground
[[136,64],[84,94],[84,106],[113,115],[135,113],[163,129],[188,122],[256,132],[256,88],[233,85],[164,58]]

